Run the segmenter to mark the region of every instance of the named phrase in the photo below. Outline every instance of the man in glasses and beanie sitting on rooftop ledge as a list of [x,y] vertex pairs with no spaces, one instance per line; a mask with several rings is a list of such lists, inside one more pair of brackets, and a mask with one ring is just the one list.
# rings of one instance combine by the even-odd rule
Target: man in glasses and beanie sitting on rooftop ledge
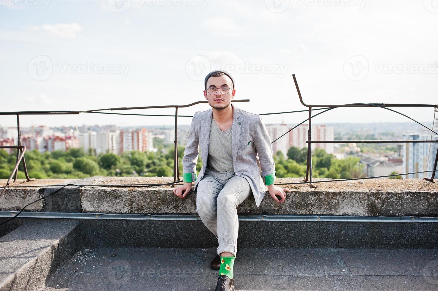
[[[236,95],[233,77],[216,70],[205,77],[204,86],[204,97],[212,108],[193,116],[183,158],[185,184],[173,193],[184,198],[195,181],[196,212],[219,242],[211,263],[213,269],[219,269],[216,290],[233,290],[233,265],[239,251],[237,206],[252,193],[259,207],[267,190],[277,203],[283,203],[286,191],[291,190],[274,186],[276,171],[268,131],[260,115],[231,102]],[[198,177],[199,144],[203,165]]]

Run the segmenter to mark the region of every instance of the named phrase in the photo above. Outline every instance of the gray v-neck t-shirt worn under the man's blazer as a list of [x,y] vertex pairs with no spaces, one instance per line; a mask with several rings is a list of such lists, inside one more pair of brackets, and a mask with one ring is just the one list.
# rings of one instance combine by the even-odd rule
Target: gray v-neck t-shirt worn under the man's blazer
[[210,140],[208,142],[207,164],[218,172],[234,171],[233,153],[231,151],[231,137],[233,125],[222,131],[212,118],[210,126]]

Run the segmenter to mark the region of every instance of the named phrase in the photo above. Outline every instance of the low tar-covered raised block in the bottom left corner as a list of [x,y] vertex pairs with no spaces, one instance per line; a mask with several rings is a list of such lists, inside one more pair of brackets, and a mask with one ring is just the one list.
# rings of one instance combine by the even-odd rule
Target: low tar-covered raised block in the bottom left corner
[[79,248],[77,221],[32,220],[0,238],[0,291],[35,290]]

